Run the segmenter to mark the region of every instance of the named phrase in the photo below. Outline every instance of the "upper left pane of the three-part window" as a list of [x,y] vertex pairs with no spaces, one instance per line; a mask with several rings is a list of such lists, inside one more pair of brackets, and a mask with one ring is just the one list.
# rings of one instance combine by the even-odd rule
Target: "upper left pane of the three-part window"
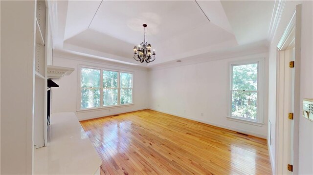
[[82,68],[81,72],[82,88],[99,88],[100,87],[100,70]]

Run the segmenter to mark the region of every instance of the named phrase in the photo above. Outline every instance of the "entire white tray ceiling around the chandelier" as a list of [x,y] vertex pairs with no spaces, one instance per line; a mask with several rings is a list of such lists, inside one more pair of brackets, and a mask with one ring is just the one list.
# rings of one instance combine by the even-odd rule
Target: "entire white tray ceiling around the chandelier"
[[63,39],[55,47],[148,66],[133,59],[146,23],[146,40],[156,49],[151,66],[268,38],[274,1],[197,2],[201,8],[194,0],[58,3],[58,38]]

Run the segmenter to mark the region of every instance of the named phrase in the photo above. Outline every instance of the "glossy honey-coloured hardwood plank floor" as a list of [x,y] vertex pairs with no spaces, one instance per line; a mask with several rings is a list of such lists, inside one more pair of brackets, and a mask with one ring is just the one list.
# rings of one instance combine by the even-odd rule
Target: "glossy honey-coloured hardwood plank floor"
[[265,139],[152,110],[81,121],[101,174],[271,174]]

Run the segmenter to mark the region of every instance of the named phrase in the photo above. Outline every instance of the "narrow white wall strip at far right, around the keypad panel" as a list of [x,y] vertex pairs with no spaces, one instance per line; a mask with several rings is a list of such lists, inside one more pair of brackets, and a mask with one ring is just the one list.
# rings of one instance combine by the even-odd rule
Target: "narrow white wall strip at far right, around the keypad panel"
[[[312,1],[302,4],[300,109],[303,98],[313,98],[312,6]],[[299,174],[313,175],[313,122],[304,117],[300,117],[299,121]]]

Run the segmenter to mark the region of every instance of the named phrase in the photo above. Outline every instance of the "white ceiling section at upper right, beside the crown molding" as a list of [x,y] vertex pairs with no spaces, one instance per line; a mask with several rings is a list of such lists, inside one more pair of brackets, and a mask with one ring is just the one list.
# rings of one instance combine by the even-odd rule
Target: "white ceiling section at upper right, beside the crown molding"
[[227,0],[221,2],[240,45],[260,41],[268,37],[274,0]]

